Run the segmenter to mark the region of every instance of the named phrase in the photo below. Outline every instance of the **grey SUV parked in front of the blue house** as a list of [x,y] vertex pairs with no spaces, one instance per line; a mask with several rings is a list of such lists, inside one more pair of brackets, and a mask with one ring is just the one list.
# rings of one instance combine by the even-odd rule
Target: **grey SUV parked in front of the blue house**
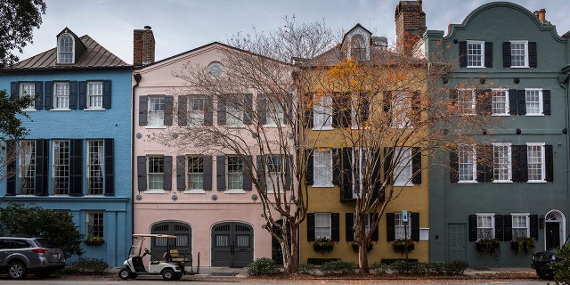
[[28,273],[42,278],[63,267],[63,252],[49,240],[0,237],[0,273],[8,273],[12,279],[26,278]]

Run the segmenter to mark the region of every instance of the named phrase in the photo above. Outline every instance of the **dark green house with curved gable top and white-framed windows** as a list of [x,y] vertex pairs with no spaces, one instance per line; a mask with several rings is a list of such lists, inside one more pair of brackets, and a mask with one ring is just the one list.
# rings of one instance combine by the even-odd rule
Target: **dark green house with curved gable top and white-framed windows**
[[[429,259],[528,266],[519,240],[558,248],[568,233],[568,39],[544,10],[496,2],[423,44],[429,61],[457,67],[434,84],[460,116],[496,121],[434,159],[449,167],[429,172]],[[485,250],[485,240],[497,241]]]

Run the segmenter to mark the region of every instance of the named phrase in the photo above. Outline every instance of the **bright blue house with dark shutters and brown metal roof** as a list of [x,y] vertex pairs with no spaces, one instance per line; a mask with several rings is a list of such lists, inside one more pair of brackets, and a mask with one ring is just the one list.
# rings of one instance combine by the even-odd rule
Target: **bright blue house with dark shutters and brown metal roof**
[[0,182],[4,200],[69,211],[85,236],[81,257],[126,259],[132,233],[132,66],[89,36],[64,28],[56,47],[0,73],[0,89],[36,96],[23,119],[26,139]]

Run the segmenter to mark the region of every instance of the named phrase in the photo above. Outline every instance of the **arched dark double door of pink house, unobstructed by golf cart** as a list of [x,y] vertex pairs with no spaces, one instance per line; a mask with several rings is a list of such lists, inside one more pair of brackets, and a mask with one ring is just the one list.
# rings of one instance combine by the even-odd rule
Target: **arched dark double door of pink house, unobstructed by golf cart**
[[216,224],[212,229],[212,266],[245,267],[253,261],[253,228],[243,223]]

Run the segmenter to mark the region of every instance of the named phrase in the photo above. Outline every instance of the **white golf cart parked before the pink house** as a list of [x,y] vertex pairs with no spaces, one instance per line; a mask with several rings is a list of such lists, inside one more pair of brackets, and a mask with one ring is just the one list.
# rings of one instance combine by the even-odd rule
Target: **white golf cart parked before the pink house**
[[[162,258],[155,258],[154,260],[151,258],[148,270],[142,262],[144,256],[151,256],[151,250],[144,248],[148,244],[145,243],[145,240],[151,240],[153,246],[167,246],[166,251],[161,255]],[[156,253],[155,256],[157,256]],[[196,272],[194,272],[191,254],[185,255],[178,252],[175,235],[133,234],[133,242],[128,253],[128,259],[123,265],[123,268],[118,272],[118,277],[122,280],[134,279],[138,275],[162,275],[162,278],[167,281],[179,280],[183,275],[199,273],[199,254],[198,267]]]

